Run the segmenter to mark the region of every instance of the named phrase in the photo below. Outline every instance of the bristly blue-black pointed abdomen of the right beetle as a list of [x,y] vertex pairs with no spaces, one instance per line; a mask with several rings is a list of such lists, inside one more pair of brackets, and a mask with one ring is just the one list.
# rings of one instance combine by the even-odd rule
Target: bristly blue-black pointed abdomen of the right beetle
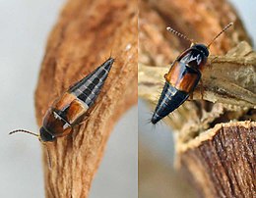
[[152,117],[152,124],[157,124],[162,118],[177,109],[188,98],[189,94],[165,82],[160,94],[160,100]]

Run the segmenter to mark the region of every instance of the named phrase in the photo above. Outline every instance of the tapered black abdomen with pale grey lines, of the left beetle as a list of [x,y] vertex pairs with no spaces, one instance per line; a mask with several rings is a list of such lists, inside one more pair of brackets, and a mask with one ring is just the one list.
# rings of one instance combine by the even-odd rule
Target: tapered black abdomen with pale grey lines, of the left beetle
[[113,62],[114,59],[109,58],[95,72],[89,74],[71,87],[69,92],[78,97],[90,108],[96,101],[96,97],[104,84]]

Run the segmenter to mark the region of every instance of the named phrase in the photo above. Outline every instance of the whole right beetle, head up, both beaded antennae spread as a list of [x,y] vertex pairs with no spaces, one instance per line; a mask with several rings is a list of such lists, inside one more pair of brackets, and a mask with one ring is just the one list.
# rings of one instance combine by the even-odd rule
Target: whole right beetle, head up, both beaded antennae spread
[[171,64],[169,72],[164,75],[165,84],[151,119],[152,124],[157,124],[188,99],[201,79],[201,72],[206,65],[210,46],[231,25],[233,23],[224,26],[223,30],[207,46],[194,43],[192,39],[187,38],[171,27],[166,28],[177,36],[189,40],[191,47],[176,58]]

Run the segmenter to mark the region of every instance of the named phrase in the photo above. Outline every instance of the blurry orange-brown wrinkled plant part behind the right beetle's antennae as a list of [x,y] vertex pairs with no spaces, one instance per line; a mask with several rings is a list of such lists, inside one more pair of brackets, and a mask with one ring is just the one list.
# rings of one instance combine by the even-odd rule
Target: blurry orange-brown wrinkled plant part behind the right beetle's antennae
[[234,9],[224,0],[142,0],[139,8],[139,62],[143,65],[166,66],[189,47],[188,41],[166,31],[166,26],[197,42],[209,43],[224,25],[233,22],[211,46],[214,55],[223,55],[240,41],[250,43]]

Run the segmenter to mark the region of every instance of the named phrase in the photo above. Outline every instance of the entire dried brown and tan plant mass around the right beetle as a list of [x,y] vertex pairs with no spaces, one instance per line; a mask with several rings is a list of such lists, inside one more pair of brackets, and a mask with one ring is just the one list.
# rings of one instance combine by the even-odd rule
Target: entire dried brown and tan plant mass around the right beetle
[[143,0],[139,7],[139,96],[152,108],[167,64],[189,47],[165,27],[207,44],[234,23],[211,46],[193,101],[164,121],[175,131],[177,167],[202,197],[255,196],[256,53],[236,12],[224,0]]

